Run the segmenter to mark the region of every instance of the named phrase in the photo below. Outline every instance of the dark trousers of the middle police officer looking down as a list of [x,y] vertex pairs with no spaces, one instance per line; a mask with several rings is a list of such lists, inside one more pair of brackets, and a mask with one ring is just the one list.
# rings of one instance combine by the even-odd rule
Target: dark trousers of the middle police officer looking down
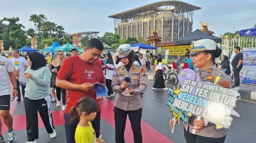
[[114,113],[115,113],[116,143],[124,143],[124,131],[125,131],[127,114],[131,122],[134,143],[142,143],[142,134],[141,134],[141,127],[140,127],[142,108],[134,111],[125,111],[117,107],[114,107]]

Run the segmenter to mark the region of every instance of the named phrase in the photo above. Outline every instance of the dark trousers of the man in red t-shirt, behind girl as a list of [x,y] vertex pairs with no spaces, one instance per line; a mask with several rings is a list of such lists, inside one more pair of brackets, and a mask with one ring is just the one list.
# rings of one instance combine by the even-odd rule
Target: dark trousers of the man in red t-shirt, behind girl
[[[97,112],[96,117],[93,121],[91,121],[97,138],[100,136],[100,112],[101,111]],[[71,116],[70,114],[65,113],[64,120],[67,143],[75,143],[75,129],[77,127],[77,124],[79,123],[79,119],[75,118],[75,121],[73,123],[69,123],[71,121]]]

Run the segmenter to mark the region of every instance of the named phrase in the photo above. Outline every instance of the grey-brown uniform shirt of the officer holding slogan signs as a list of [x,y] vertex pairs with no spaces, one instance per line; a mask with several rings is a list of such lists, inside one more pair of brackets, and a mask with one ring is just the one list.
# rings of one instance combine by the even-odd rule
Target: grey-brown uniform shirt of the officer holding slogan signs
[[[216,65],[214,64],[211,68],[206,69],[206,70],[198,70],[198,73],[200,75],[200,79],[201,81],[207,81],[207,82],[211,82],[214,83],[216,76],[220,76],[221,79],[220,81],[217,83],[219,86],[225,87],[225,88],[232,88],[232,81],[231,79],[224,73],[223,70],[218,69],[216,67]],[[190,126],[194,126],[194,120],[196,119],[196,116],[191,116],[189,117],[189,123],[185,124],[183,123],[186,131],[188,131],[189,128],[189,132],[192,134],[192,128]],[[216,125],[213,123],[210,123],[209,127],[206,127],[204,129],[202,129],[201,131],[198,131],[196,133],[196,135],[198,136],[203,136],[203,137],[209,137],[209,138],[221,138],[224,137],[227,132],[228,129],[216,129]]]

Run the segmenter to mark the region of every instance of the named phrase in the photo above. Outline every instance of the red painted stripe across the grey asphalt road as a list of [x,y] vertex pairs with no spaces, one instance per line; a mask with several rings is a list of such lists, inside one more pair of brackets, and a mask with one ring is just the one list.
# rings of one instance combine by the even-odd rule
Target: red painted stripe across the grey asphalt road
[[[11,91],[12,91],[12,86],[11,86]],[[11,115],[13,115],[16,106],[17,106],[17,101],[15,98],[14,101],[11,101],[11,105],[10,105]],[[100,101],[100,106],[101,106],[101,119],[105,119],[115,129],[115,120],[114,120],[114,112],[113,112],[114,102],[110,99],[104,99]],[[64,111],[52,111],[52,114],[54,119],[53,120],[54,126],[64,125],[64,117],[63,117]],[[38,114],[38,126],[39,128],[44,127],[39,114]],[[13,129],[14,130],[26,129],[25,114],[13,116]],[[142,130],[143,143],[174,143],[173,141],[171,141],[170,139],[168,139],[167,137],[159,133],[157,130],[152,128],[146,122],[141,121],[141,130]],[[7,131],[7,127],[2,121],[2,133],[6,131]],[[133,143],[133,133],[132,133],[129,117],[127,117],[127,120],[126,120],[125,141],[127,143]]]

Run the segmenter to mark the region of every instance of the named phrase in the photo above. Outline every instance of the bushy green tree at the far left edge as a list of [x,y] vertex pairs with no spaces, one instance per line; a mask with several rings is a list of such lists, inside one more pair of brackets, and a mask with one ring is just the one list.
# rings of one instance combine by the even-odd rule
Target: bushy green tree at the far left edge
[[8,21],[8,26],[2,30],[1,37],[2,40],[4,40],[4,47],[7,50],[10,46],[12,48],[22,48],[26,45],[26,39],[27,37],[22,33],[21,28],[25,27],[17,23],[20,21],[19,17],[12,17],[12,18],[6,18],[4,17],[2,20],[0,20],[0,23],[3,21]]

